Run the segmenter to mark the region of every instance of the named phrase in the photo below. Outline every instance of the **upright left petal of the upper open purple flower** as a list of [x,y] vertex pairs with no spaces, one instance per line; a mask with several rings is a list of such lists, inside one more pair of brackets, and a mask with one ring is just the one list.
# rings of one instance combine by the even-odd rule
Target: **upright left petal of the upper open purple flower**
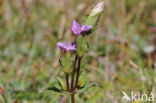
[[73,32],[75,35],[80,34],[80,33],[81,33],[81,26],[80,26],[80,24],[78,24],[75,20],[73,20],[71,30],[72,30],[72,32]]

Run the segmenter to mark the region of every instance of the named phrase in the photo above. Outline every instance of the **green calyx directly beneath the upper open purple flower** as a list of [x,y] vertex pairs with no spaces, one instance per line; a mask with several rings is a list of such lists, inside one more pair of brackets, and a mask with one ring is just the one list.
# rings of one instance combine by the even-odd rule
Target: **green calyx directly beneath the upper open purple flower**
[[77,55],[82,57],[88,50],[88,45],[84,37],[80,36],[77,41]]

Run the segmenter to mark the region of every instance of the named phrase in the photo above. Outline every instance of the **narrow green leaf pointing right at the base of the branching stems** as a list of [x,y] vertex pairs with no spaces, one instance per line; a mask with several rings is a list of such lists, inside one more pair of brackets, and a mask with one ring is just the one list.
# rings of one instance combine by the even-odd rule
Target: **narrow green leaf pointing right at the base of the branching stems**
[[79,89],[77,93],[82,93],[84,91],[87,91],[91,87],[99,87],[99,84],[97,82],[86,82],[85,86]]

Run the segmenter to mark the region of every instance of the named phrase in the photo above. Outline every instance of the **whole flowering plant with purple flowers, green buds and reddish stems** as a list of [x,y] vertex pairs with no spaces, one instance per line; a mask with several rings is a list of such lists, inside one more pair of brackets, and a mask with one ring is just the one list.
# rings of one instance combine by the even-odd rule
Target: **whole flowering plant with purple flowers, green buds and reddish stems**
[[[88,51],[87,35],[91,34],[97,26],[99,17],[103,11],[104,3],[99,2],[88,16],[84,17],[83,24],[73,20],[71,31],[76,36],[75,42],[58,42],[57,46],[62,51],[60,65],[65,74],[66,81],[58,77],[58,81],[52,83],[48,90],[68,93],[71,95],[71,102],[75,103],[74,95],[82,92],[91,86],[96,86],[95,82],[88,82],[86,72],[81,72],[81,60]],[[75,59],[72,60],[72,54]],[[73,61],[73,63],[71,63]],[[71,81],[69,79],[71,78]]]

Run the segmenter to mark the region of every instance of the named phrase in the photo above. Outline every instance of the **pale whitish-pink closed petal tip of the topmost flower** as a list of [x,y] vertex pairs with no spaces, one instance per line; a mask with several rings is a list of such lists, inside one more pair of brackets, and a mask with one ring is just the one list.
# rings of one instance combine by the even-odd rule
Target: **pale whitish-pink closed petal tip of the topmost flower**
[[102,12],[103,9],[104,9],[104,2],[101,1],[94,7],[94,9],[91,11],[89,16],[94,16],[94,15]]

